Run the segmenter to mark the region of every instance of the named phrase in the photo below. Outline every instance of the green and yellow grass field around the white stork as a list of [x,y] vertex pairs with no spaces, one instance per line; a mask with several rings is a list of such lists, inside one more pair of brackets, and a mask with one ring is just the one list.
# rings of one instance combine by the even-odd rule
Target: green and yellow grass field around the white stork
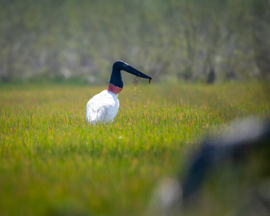
[[141,215],[207,134],[270,117],[258,82],[147,82],[124,85],[114,122],[96,126],[86,103],[107,85],[0,85],[0,215]]

